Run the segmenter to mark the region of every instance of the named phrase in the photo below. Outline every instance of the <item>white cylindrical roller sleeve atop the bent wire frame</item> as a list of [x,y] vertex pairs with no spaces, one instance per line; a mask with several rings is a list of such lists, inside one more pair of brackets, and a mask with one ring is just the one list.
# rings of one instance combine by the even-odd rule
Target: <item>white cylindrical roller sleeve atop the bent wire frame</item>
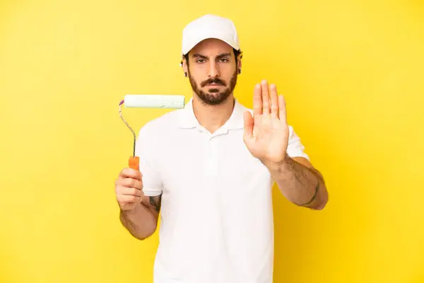
[[125,107],[139,108],[184,108],[184,96],[173,94],[127,94]]

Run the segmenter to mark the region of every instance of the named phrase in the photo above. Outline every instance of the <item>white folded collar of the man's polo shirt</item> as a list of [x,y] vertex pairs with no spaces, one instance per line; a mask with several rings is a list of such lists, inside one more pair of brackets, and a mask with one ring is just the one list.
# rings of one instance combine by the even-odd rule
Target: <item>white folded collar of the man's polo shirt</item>
[[[243,120],[243,112],[247,110],[244,105],[240,104],[236,98],[235,105],[232,110],[230,119],[225,122],[221,129],[243,129],[245,127]],[[200,127],[200,123],[194,115],[193,110],[193,98],[187,102],[183,109],[179,113],[179,127],[184,129],[190,129],[195,127]]]

